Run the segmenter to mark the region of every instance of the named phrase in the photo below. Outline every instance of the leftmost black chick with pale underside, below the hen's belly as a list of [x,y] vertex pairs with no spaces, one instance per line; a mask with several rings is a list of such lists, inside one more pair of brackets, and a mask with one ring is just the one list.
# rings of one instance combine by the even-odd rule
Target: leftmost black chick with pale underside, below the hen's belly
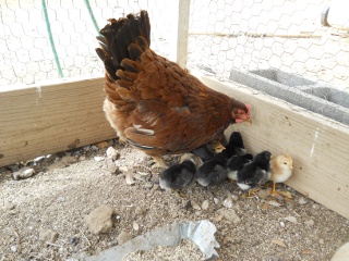
[[181,189],[188,187],[195,177],[196,167],[191,160],[169,166],[160,173],[160,188]]

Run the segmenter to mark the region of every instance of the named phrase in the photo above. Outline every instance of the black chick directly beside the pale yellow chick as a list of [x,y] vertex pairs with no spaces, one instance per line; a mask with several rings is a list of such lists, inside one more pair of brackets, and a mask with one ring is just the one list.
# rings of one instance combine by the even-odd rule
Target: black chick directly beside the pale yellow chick
[[249,195],[251,189],[263,185],[270,178],[270,156],[269,151],[262,151],[238,172],[237,184],[241,189],[249,190]]

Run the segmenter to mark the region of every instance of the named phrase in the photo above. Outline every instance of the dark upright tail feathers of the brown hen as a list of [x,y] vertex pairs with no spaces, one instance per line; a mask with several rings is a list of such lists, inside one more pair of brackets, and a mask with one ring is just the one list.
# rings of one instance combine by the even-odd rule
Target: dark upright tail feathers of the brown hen
[[[110,18],[97,37],[100,48],[96,52],[105,63],[109,79],[130,80],[130,73],[137,73],[135,61],[151,45],[151,23],[147,11],[129,14],[119,20]],[[127,74],[118,73],[122,69]],[[131,75],[132,76],[132,75]]]

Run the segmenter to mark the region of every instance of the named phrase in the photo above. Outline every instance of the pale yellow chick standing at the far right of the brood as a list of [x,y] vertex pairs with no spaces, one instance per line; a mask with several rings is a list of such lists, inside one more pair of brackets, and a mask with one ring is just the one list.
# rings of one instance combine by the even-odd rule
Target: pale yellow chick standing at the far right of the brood
[[292,175],[292,158],[290,156],[275,156],[272,157],[272,175],[273,182],[272,195],[278,196],[275,190],[276,183],[284,183]]

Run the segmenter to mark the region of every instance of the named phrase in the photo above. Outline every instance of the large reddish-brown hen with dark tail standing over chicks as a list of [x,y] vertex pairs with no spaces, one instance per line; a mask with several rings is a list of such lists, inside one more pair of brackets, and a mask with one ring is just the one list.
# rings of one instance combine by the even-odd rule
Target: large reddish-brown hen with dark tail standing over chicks
[[104,111],[121,141],[152,156],[188,152],[250,121],[250,107],[215,91],[156,54],[148,13],[110,18],[97,54],[106,67]]

